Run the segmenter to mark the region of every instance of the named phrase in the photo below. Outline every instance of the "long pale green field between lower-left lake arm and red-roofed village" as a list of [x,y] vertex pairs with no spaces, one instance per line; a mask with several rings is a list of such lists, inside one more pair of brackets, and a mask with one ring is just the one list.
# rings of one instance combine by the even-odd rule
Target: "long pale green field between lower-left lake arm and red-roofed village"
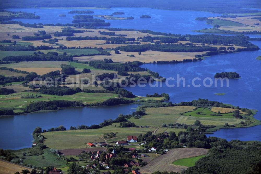
[[[117,127],[115,127],[115,125]],[[72,149],[72,148],[87,148],[85,143],[88,142],[104,142],[102,135],[107,132],[118,132],[117,138],[124,140],[128,135],[138,136],[145,134],[148,131],[154,131],[151,127],[118,127],[119,123],[113,123],[110,126],[105,126],[100,129],[87,130],[67,130],[58,132],[45,132],[43,135],[46,138],[44,142],[49,148],[56,149]],[[107,141],[107,140],[106,140]]]

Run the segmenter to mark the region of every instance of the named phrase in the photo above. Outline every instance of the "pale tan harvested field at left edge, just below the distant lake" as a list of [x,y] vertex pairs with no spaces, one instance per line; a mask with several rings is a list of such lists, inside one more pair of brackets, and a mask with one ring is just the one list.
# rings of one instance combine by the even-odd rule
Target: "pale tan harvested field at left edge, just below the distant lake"
[[46,32],[50,31],[62,31],[62,26],[59,27],[51,27],[51,26],[44,26],[44,28],[30,28],[30,27],[23,27],[19,24],[0,24],[0,31],[1,32],[37,32],[38,30],[45,30]]

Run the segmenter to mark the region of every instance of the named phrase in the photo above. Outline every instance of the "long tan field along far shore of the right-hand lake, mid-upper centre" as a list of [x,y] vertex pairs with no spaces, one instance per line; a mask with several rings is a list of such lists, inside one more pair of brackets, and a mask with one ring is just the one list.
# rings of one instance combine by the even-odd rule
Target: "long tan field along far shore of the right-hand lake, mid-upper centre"
[[[141,62],[153,62],[153,61],[171,61],[171,60],[183,60],[183,59],[193,59],[196,54],[203,54],[203,52],[195,52],[195,53],[185,53],[185,52],[160,52],[160,51],[144,51],[141,52],[141,55],[138,52],[124,52],[120,51],[121,54],[115,54],[114,51],[111,51],[111,56],[82,56],[82,57],[74,57],[74,60],[79,61],[92,61],[92,60],[103,60],[103,59],[111,59],[114,62],[128,62],[128,61],[141,61]],[[127,56],[133,54],[135,57]]]

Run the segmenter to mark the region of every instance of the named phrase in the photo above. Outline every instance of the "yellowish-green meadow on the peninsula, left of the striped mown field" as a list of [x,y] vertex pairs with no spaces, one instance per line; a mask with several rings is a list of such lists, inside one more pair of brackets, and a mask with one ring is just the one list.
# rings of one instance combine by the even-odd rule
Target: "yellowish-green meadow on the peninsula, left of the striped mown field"
[[[129,121],[134,122],[139,126],[162,126],[163,123],[176,123],[177,118],[179,118],[182,112],[187,112],[193,110],[194,106],[174,106],[174,107],[164,107],[164,108],[146,108],[147,115],[142,116],[139,119],[134,119],[133,117]],[[157,121],[155,121],[157,120]]]

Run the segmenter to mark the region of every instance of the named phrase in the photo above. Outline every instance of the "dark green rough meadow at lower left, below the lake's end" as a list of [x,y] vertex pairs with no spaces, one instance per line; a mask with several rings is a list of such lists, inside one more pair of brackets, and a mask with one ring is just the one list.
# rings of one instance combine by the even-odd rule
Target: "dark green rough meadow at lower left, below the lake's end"
[[[62,159],[56,159],[55,154],[50,153],[50,149],[43,149],[44,153],[42,155],[30,155],[30,150],[32,148],[14,150],[14,154],[18,156],[16,159],[23,159],[23,161],[27,164],[35,165],[36,167],[46,167],[46,166],[54,166],[54,167],[65,167],[66,163]],[[27,156],[23,156],[22,152],[27,152]],[[44,156],[44,157],[43,157]]]

